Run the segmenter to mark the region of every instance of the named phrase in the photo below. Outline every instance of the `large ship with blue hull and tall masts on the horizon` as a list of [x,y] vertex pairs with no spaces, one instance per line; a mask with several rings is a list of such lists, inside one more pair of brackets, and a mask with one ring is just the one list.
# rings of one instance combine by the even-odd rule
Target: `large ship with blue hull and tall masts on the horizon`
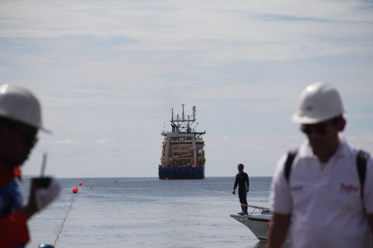
[[[195,132],[191,125],[196,121],[195,106],[193,114],[171,114],[172,132],[162,132],[162,157],[158,167],[160,179],[203,179],[204,178],[204,141],[205,132]],[[198,124],[198,123],[197,123]]]

